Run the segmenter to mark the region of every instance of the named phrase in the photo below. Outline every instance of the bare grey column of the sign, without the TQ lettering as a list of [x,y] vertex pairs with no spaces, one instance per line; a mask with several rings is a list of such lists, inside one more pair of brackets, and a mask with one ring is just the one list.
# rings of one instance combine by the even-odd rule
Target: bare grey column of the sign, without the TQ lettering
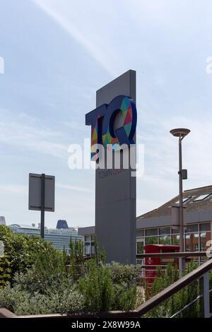
[[[136,71],[126,71],[96,93],[96,107],[126,95],[136,102]],[[95,233],[106,261],[136,263],[136,177],[129,170],[95,170]]]

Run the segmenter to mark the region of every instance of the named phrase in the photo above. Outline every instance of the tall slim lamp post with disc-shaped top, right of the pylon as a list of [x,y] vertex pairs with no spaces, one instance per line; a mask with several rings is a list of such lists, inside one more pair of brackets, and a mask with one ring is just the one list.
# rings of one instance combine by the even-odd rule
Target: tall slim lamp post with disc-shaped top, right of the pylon
[[[179,251],[184,252],[184,220],[183,220],[183,197],[182,197],[182,180],[187,179],[187,170],[182,170],[182,140],[189,129],[179,128],[170,130],[170,134],[179,137]],[[179,272],[184,271],[184,258],[179,259]]]

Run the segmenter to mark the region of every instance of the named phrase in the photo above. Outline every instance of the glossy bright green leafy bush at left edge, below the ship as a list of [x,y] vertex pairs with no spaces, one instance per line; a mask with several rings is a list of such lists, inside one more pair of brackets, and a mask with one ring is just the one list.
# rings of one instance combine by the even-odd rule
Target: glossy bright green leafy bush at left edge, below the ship
[[0,240],[4,242],[4,252],[11,269],[8,279],[12,279],[16,272],[24,272],[33,266],[37,253],[49,252],[51,254],[56,251],[52,244],[44,239],[13,233],[5,225],[0,225]]

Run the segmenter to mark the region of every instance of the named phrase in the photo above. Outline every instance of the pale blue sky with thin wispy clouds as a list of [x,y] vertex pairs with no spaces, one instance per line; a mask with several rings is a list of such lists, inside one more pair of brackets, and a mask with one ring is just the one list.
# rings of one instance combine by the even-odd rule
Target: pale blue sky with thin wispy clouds
[[28,211],[28,173],[56,177],[56,210],[46,225],[94,224],[93,170],[69,170],[71,143],[90,137],[85,114],[95,90],[137,73],[137,142],[145,172],[137,215],[177,194],[177,141],[185,126],[184,189],[211,179],[211,1],[4,0],[0,4],[0,215],[38,223]]

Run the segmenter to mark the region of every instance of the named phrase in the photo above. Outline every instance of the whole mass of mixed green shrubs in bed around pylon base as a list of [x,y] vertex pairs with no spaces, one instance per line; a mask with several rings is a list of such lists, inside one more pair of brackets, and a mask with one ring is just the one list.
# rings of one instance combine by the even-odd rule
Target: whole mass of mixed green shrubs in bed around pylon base
[[[40,237],[0,226],[0,307],[24,314],[130,310],[136,306],[136,267],[104,264],[105,251],[84,260],[83,243],[70,242],[70,256]],[[69,266],[67,266],[69,263]],[[10,281],[10,283],[7,283]]]

